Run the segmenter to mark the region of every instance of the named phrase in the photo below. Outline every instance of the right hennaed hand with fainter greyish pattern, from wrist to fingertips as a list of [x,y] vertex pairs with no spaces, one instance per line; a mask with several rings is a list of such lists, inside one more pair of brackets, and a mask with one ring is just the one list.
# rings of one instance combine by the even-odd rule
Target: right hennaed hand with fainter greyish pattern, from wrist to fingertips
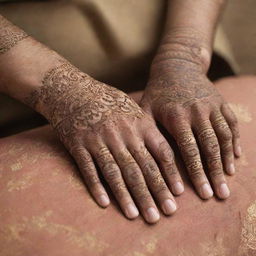
[[[223,169],[234,174],[234,153],[241,154],[237,120],[200,65],[158,58],[141,106],[175,138],[201,198],[213,195],[207,176],[216,195],[227,198],[230,191]],[[200,153],[205,157],[207,173]]]

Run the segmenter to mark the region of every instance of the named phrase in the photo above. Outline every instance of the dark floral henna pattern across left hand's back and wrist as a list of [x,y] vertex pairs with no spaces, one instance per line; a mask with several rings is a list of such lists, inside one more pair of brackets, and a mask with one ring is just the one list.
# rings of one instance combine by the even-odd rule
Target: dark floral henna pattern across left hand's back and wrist
[[62,139],[77,131],[96,131],[121,115],[140,118],[140,107],[125,93],[94,80],[69,63],[50,70],[26,102],[43,114]]

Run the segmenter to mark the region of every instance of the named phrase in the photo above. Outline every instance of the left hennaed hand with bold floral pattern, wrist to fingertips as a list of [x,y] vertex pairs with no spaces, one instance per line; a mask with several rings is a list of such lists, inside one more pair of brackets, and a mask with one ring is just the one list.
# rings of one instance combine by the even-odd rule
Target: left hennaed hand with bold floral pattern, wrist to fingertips
[[168,186],[180,194],[183,185],[173,152],[153,119],[128,95],[63,64],[48,72],[35,98],[101,206],[109,198],[95,164],[128,218],[138,216],[136,203],[146,221],[158,221],[153,198],[165,214],[174,213]]

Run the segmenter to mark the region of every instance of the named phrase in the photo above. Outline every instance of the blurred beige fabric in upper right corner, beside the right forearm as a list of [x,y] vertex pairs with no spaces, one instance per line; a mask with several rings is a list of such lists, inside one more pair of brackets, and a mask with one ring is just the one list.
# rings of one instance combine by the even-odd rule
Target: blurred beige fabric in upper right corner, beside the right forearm
[[256,74],[256,1],[231,0],[218,28],[215,51],[237,74]]

